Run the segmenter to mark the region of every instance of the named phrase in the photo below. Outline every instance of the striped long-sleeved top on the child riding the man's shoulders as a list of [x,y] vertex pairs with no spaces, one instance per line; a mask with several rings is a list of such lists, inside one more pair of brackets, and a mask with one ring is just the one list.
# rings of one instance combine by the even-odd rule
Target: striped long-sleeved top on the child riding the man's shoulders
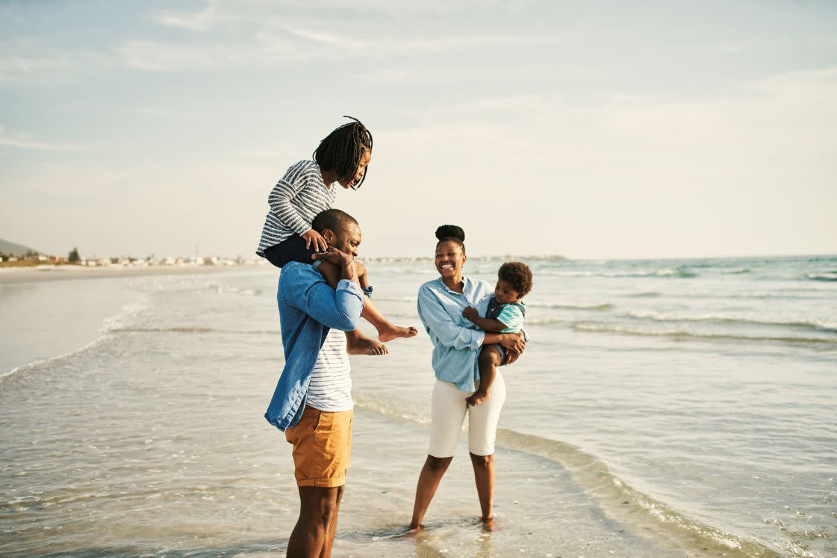
[[316,161],[291,165],[267,197],[270,211],[264,218],[256,253],[264,258],[267,248],[293,234],[305,233],[317,213],[331,209],[336,195],[337,189],[323,182]]

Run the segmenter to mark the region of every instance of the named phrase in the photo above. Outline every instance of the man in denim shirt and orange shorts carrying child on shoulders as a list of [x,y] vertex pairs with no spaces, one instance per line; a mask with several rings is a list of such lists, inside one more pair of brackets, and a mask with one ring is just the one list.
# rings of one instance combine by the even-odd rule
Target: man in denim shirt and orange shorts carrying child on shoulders
[[300,517],[288,540],[288,558],[328,558],[346,484],[352,445],[352,379],[344,331],[357,328],[363,310],[354,257],[357,221],[326,209],[311,223],[328,243],[316,253],[340,269],[331,289],[316,264],[282,268],[279,303],[285,368],[264,417],[294,446]]

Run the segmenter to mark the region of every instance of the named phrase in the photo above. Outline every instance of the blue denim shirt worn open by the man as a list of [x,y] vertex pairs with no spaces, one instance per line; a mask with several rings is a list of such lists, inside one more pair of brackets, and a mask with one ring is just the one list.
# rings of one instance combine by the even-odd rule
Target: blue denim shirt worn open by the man
[[341,279],[336,290],[331,289],[314,266],[290,262],[282,268],[276,301],[285,368],[264,418],[284,431],[302,417],[311,372],[328,330],[357,328],[363,310],[363,291],[347,279]]

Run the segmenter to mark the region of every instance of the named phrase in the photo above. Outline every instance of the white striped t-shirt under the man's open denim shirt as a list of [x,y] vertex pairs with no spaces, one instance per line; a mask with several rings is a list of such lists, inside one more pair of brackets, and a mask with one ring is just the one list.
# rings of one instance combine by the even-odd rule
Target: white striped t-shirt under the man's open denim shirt
[[316,357],[306,405],[327,412],[351,410],[354,406],[350,371],[346,334],[332,328]]

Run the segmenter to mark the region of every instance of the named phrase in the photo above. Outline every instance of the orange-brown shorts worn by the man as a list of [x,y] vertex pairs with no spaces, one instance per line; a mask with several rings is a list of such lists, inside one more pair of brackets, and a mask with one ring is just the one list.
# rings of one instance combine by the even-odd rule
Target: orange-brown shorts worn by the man
[[335,488],[346,484],[352,450],[352,411],[326,412],[306,406],[300,422],[285,430],[294,446],[297,486]]

